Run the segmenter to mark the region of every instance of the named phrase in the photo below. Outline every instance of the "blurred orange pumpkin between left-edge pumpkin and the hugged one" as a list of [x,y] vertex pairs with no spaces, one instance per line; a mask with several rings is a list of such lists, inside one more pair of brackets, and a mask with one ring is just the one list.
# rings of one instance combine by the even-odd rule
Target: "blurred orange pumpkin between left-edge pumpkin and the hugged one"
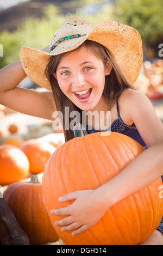
[[43,172],[49,157],[55,151],[52,145],[37,141],[37,139],[29,139],[20,148],[28,157],[30,172],[34,174]]

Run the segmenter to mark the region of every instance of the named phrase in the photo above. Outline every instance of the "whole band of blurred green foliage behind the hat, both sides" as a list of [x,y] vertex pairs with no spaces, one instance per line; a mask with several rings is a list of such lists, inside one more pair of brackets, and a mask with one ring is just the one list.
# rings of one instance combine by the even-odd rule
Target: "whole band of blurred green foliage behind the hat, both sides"
[[18,54],[22,45],[40,49],[48,45],[52,34],[66,17],[72,15],[81,16],[96,23],[115,20],[132,26],[142,36],[145,58],[158,58],[158,45],[163,41],[162,0],[76,0],[66,2],[76,3],[76,10],[73,13],[63,14],[61,7],[51,3],[42,9],[43,15],[40,19],[28,17],[12,32],[3,29],[0,33],[0,43],[3,45],[0,68],[19,58]]

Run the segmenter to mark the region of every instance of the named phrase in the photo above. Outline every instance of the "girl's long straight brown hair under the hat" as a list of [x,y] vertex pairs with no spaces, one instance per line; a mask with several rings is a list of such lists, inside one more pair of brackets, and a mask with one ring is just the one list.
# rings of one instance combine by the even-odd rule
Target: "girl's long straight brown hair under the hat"
[[[79,50],[80,47],[87,47],[90,51],[95,54],[95,56],[103,61],[104,64],[110,63],[112,65],[112,70],[109,76],[105,76],[105,86],[103,90],[103,97],[108,105],[110,104],[111,107],[114,105],[115,101],[120,97],[123,90],[127,88],[133,88],[133,85],[127,80],[126,76],[123,74],[120,67],[117,65],[115,59],[112,57],[110,51],[98,42],[86,40],[80,45],[77,49]],[[61,53],[57,56],[51,56],[49,59],[49,63],[46,67],[45,73],[46,76],[51,83],[52,92],[54,95],[54,101],[57,106],[58,111],[61,111],[63,114],[63,127],[69,127],[72,118],[70,118],[70,113],[72,111],[78,111],[80,113],[80,118],[82,118],[82,109],[78,108],[74,103],[68,99],[68,97],[62,93],[62,90],[59,87],[57,79],[54,77],[54,73],[57,71],[57,67],[61,61],[61,59],[67,54]],[[65,107],[69,107],[69,113],[65,114]],[[82,123],[82,120],[78,120]],[[74,138],[73,130],[71,129],[64,129],[65,141],[69,141],[70,139]]]

